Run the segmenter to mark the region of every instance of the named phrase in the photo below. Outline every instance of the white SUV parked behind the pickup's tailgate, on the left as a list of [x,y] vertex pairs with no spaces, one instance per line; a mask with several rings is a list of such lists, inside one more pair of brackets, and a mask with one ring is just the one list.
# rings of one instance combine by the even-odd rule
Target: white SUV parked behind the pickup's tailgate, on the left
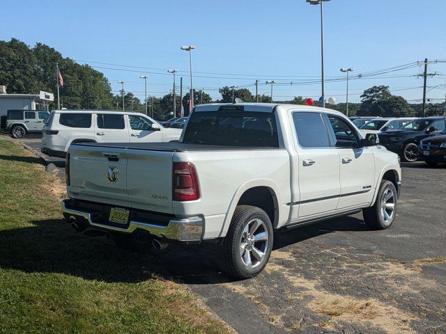
[[43,128],[40,150],[51,157],[64,158],[72,143],[178,141],[181,131],[165,128],[142,113],[56,110]]

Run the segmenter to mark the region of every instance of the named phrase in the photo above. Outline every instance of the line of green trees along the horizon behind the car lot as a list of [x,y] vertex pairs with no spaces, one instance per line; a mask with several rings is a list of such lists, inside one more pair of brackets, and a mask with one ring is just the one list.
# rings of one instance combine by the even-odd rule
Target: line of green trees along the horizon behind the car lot
[[[122,109],[122,95],[114,95],[109,80],[89,65],[81,65],[70,58],[64,58],[59,51],[43,43],[29,47],[24,42],[12,38],[9,42],[0,41],[0,85],[6,85],[7,93],[36,94],[39,90],[56,93],[56,63],[63,76],[63,87],[60,88],[61,107],[67,109]],[[211,102],[233,102],[240,98],[245,102],[271,102],[269,95],[257,97],[247,88],[224,86],[219,89],[222,98],[213,101],[203,90],[194,91],[194,105]],[[180,113],[183,104],[185,115],[189,114],[189,93],[176,95],[176,111]],[[290,101],[277,103],[306,104],[302,96]],[[156,119],[171,117],[174,110],[174,95],[169,93],[163,97],[148,96],[148,109],[153,111]],[[317,106],[319,103],[314,102]],[[128,92],[124,96],[127,111],[144,112],[144,100]],[[56,108],[56,102],[50,104]],[[346,113],[346,104],[328,105],[329,108]],[[373,86],[361,95],[361,103],[348,104],[349,116],[422,116],[420,104],[409,104],[403,97],[392,95],[388,86]],[[426,115],[444,113],[442,104],[427,104]]]

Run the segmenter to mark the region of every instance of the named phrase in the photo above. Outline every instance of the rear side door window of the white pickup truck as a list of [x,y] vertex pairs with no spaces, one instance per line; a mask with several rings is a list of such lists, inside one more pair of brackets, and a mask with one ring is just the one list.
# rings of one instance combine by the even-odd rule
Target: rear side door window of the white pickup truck
[[321,113],[293,113],[295,132],[302,148],[329,148],[330,139]]

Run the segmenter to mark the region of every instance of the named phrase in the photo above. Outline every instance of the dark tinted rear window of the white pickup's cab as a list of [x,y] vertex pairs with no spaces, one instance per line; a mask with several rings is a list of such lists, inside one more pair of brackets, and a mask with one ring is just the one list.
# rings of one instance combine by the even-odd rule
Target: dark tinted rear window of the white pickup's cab
[[184,143],[279,147],[275,114],[253,111],[199,111],[190,116]]

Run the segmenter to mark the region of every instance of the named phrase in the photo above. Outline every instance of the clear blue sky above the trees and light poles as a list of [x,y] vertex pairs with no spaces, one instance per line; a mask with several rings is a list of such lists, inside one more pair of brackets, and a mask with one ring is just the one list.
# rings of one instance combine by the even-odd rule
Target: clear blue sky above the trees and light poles
[[[326,77],[343,75],[341,67],[354,67],[357,75],[426,57],[445,60],[445,13],[445,0],[326,2]],[[171,89],[169,68],[185,71],[178,74],[187,89],[189,58],[180,46],[193,44],[194,87],[214,98],[220,97],[218,87],[252,85],[255,79],[259,93],[270,93],[266,79],[282,83],[274,87],[274,100],[320,96],[320,84],[295,84],[320,78],[320,13],[305,0],[3,1],[0,17],[1,40],[43,42],[79,63],[97,62],[90,65],[105,73],[114,93],[120,89],[116,81],[124,80],[125,90],[144,97],[139,75],[148,73],[148,92],[162,96]],[[429,65],[435,71],[443,75],[429,78],[429,87],[446,84],[446,63]],[[421,99],[422,88],[416,87],[422,79],[410,77],[421,72],[419,66],[354,79],[350,100],[359,101],[364,89],[378,84],[408,100]],[[344,102],[345,86],[327,83],[325,95]],[[444,99],[445,88],[433,88],[428,97]]]

